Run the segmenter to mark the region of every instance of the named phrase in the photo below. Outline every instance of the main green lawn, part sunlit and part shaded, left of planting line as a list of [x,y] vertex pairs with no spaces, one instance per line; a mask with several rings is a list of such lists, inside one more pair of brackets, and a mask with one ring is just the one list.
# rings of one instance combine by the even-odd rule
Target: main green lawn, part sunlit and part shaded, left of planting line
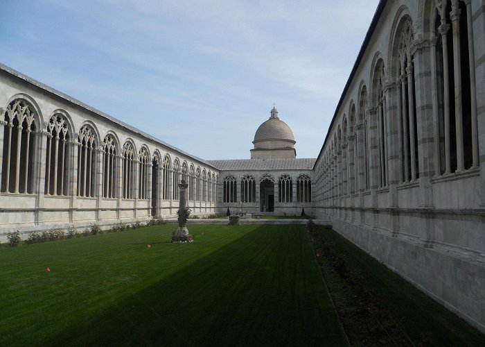
[[304,226],[174,228],[1,248],[0,346],[347,344]]

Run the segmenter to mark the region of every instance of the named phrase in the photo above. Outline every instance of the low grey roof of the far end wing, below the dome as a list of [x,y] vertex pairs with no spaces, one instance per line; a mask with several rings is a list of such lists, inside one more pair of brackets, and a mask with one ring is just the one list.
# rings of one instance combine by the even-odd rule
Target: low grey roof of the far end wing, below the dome
[[208,160],[221,171],[248,171],[248,170],[311,170],[315,164],[314,158],[298,159],[229,159]]

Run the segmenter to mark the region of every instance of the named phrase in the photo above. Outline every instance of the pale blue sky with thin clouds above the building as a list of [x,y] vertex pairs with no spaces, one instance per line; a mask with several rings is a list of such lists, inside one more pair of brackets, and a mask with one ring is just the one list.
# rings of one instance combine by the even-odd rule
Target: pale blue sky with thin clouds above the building
[[0,0],[0,62],[205,160],[316,158],[378,0]]

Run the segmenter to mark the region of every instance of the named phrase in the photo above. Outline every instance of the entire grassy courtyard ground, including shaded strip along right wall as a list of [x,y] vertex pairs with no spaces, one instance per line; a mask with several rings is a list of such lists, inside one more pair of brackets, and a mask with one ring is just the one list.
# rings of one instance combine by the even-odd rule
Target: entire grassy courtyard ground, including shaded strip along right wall
[[[193,244],[170,244],[175,226],[164,225],[0,248],[0,344],[484,342],[484,335],[332,230],[189,228]],[[339,261],[353,274],[350,282],[342,276],[342,265],[334,266]],[[365,282],[357,286],[359,293],[376,298],[365,303],[370,316],[358,312],[355,303],[355,298],[365,300],[353,290],[359,276]]]

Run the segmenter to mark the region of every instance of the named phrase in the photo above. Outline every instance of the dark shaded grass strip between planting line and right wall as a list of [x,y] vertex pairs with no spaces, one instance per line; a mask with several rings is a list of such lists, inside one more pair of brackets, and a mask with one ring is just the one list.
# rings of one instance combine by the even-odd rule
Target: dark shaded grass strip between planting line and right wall
[[310,237],[353,346],[485,346],[485,335],[337,232]]

